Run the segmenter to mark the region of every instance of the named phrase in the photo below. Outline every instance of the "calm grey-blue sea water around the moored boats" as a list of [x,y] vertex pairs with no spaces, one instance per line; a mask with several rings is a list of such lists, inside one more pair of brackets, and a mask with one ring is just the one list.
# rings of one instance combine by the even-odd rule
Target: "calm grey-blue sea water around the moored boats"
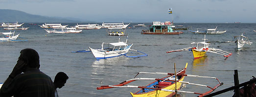
[[[37,23],[42,25],[43,23]],[[76,23],[62,23],[74,26]],[[88,24],[88,23],[84,23]],[[93,23],[92,23],[93,24]],[[101,23],[98,23],[101,24]],[[125,23],[127,24],[127,23]],[[71,51],[100,48],[102,42],[117,42],[117,36],[108,36],[106,28],[98,30],[83,30],[77,34],[55,34],[47,33],[38,25],[23,24],[30,27],[28,30],[15,32],[20,33],[20,37],[28,41],[0,42],[0,82],[4,82],[11,73],[20,51],[24,48],[33,48],[40,55],[40,70],[54,80],[58,72],[65,72],[70,78],[67,84],[61,89],[57,89],[59,97],[131,97],[130,92],[137,92],[138,88],[112,88],[96,90],[102,85],[114,85],[134,78],[138,72],[166,72],[174,73],[174,63],[177,71],[185,67],[188,63],[186,74],[216,77],[224,83],[214,92],[229,88],[234,85],[234,70],[238,70],[239,82],[249,81],[252,76],[256,76],[256,23],[176,23],[191,27],[188,30],[195,31],[196,28],[215,28],[223,31],[222,35],[207,35],[207,41],[211,41],[211,48],[218,48],[233,55],[225,59],[221,55],[207,53],[208,57],[193,59],[192,52],[166,51],[190,47],[190,43],[203,41],[204,35],[195,35],[184,31],[181,35],[141,35],[142,29],[148,27],[133,28],[132,25],[141,23],[131,23],[125,34],[129,34],[128,44],[132,44],[132,49],[148,54],[147,57],[140,58],[108,58],[96,60],[91,52],[70,53]],[[151,25],[151,23],[145,23]],[[8,32],[2,30],[0,32]],[[236,51],[235,43],[221,43],[222,41],[232,41],[233,36],[243,33],[248,37],[253,45],[245,46],[241,51]],[[121,41],[126,40],[126,36],[121,37]],[[128,54],[129,55],[129,54]],[[140,75],[137,78],[163,78],[163,75]],[[217,84],[215,79],[186,77],[184,81],[209,85]],[[151,81],[135,81],[130,85],[145,86]],[[208,88],[193,85],[186,85],[184,91],[203,93]],[[194,94],[181,94],[182,97],[196,97]],[[233,91],[226,92],[216,97],[232,97]]]

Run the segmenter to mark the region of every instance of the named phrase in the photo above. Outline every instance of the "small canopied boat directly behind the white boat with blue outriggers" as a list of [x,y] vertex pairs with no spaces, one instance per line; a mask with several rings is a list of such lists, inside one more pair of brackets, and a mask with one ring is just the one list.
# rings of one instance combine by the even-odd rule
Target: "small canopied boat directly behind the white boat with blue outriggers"
[[[108,35],[110,36],[124,36],[125,29],[123,27],[108,28]],[[115,31],[114,31],[115,30]],[[118,31],[119,30],[119,31]]]

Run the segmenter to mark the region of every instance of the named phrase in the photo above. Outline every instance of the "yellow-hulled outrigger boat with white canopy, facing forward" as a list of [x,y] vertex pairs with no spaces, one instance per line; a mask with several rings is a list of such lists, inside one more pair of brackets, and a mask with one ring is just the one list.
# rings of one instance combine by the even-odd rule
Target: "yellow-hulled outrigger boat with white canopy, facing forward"
[[[207,40],[207,39],[203,39],[203,40]],[[226,58],[228,58],[232,55],[232,53],[223,51],[221,49],[209,48],[210,43],[206,43],[206,41],[192,42],[191,44],[194,44],[195,46],[187,47],[187,48],[180,49],[180,50],[172,50],[172,51],[168,51],[166,53],[178,52],[178,51],[192,51],[194,59],[206,56],[206,52],[223,55]]]

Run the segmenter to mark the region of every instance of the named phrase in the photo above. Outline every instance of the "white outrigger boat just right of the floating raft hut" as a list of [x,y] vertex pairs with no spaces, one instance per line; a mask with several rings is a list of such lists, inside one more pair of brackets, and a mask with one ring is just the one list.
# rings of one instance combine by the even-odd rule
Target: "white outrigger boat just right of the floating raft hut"
[[216,31],[218,26],[216,26],[215,29],[197,29],[197,31],[190,31],[188,30],[189,32],[192,32],[194,34],[223,34],[225,32],[227,32],[227,30],[225,31]]

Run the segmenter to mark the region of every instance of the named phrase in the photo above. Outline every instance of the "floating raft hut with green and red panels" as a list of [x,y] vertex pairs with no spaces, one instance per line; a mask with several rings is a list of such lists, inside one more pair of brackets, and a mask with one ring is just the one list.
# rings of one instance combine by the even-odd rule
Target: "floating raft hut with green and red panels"
[[161,23],[160,21],[154,21],[153,25],[149,27],[149,30],[142,30],[141,34],[150,35],[178,35],[183,34],[183,32],[177,32],[172,29],[170,21]]

